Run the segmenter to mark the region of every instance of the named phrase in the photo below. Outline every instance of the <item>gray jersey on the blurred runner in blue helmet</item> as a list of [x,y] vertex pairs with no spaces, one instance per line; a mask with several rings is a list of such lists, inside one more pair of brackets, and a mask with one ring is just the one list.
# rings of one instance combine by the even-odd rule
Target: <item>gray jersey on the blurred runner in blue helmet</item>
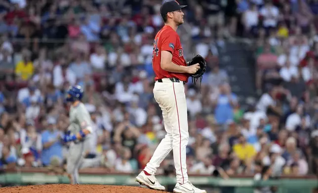
[[[92,132],[92,120],[90,119],[90,115],[83,103],[76,107],[71,106],[70,109],[70,126],[68,130],[71,131],[72,134],[78,133],[81,129],[88,129]],[[90,136],[87,135],[86,138]]]

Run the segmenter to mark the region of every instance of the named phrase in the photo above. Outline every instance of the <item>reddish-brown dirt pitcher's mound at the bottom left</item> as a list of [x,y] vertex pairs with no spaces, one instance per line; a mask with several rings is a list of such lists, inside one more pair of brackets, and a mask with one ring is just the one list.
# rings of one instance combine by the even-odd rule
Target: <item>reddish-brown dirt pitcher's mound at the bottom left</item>
[[0,188],[0,193],[163,193],[141,187],[50,184]]

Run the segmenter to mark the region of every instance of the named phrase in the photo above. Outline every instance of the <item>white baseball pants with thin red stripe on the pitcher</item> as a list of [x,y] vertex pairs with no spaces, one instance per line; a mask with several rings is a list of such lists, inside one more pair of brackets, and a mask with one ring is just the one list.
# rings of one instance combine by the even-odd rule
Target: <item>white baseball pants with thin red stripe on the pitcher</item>
[[154,96],[158,102],[167,134],[159,143],[145,171],[154,175],[164,158],[173,150],[177,182],[188,182],[186,147],[189,140],[187,102],[183,82],[171,82],[168,78],[156,82]]

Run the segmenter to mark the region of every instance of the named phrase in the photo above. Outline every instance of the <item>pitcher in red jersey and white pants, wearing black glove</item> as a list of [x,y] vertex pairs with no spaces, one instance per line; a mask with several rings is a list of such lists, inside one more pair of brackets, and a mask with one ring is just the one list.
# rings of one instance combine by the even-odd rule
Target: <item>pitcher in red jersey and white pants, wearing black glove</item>
[[163,159],[173,151],[177,183],[174,193],[206,193],[189,181],[186,164],[186,146],[189,140],[187,102],[184,84],[191,76],[194,81],[201,80],[206,70],[206,62],[200,55],[188,63],[183,56],[183,49],[177,28],[183,24],[182,8],[176,0],[164,2],[160,13],[165,25],[157,33],[153,47],[153,68],[156,74],[154,96],[162,110],[164,129],[167,134],[159,143],[153,157],[136,181],[151,189],[164,191],[155,172]]

